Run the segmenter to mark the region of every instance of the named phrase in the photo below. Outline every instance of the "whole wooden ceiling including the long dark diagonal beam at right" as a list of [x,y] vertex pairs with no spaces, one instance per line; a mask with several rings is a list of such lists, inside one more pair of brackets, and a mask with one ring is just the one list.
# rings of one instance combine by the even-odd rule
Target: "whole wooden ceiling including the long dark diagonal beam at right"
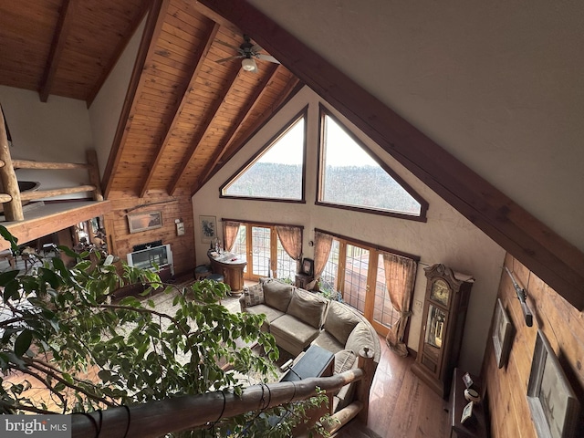
[[[107,197],[195,193],[301,82],[584,308],[584,255],[576,247],[245,1],[0,2],[0,84],[90,106],[145,16],[104,170]],[[235,55],[222,43],[238,47],[242,30],[295,74],[263,61],[257,74],[242,71],[238,59],[218,63]]]

